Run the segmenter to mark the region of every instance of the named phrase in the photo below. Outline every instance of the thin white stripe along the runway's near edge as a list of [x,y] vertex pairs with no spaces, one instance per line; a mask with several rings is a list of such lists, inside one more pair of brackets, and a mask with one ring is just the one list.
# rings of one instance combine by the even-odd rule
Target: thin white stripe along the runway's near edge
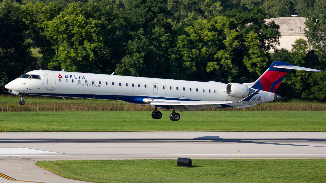
[[[238,154],[49,154],[49,155],[0,155],[0,156],[192,156],[192,155],[238,155]],[[240,154],[240,155],[326,155],[326,154]]]

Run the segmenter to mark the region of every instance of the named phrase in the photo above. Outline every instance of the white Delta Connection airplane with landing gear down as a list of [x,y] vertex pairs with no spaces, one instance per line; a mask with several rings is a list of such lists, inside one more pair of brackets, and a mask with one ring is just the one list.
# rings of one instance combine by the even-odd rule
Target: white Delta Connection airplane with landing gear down
[[155,107],[153,119],[161,119],[157,110],[172,109],[170,120],[180,120],[179,111],[194,111],[203,108],[250,107],[281,98],[275,94],[287,73],[291,70],[322,72],[317,69],[295,66],[285,62],[273,62],[255,82],[221,83],[174,79],[159,79],[133,76],[117,76],[34,70],[13,81],[5,88],[9,93],[20,95],[20,105],[26,94],[124,101]]

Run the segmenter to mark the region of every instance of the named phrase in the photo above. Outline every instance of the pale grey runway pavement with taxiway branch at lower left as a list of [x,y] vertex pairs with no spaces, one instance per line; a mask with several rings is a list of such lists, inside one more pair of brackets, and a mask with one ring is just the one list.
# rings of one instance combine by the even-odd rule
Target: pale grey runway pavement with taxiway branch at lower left
[[[52,174],[35,162],[326,158],[326,132],[7,132],[0,134],[0,144],[0,173],[52,183],[81,181]],[[12,182],[0,177],[0,182],[5,181]]]

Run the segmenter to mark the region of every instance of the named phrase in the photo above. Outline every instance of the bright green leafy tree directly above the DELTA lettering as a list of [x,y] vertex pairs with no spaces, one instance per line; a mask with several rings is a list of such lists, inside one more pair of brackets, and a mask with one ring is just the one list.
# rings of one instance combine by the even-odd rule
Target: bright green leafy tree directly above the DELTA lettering
[[44,34],[54,44],[57,55],[49,63],[50,69],[60,68],[73,72],[98,72],[95,54],[103,46],[97,21],[86,19],[80,8],[70,4],[52,21],[43,23]]

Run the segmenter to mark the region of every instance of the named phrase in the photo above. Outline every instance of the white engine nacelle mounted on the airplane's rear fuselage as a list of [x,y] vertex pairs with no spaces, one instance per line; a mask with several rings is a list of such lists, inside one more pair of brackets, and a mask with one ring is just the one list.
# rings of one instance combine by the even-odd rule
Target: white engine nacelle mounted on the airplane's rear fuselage
[[225,92],[231,97],[245,98],[255,92],[255,90],[249,88],[247,85],[239,83],[228,83],[226,85]]

